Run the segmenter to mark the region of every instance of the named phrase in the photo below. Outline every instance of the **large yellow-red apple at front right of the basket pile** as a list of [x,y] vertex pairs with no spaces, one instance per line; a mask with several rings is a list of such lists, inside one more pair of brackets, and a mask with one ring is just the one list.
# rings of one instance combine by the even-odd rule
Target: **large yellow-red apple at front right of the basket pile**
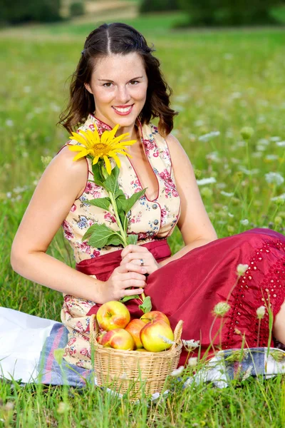
[[147,351],[160,352],[168,350],[172,346],[172,343],[168,341],[173,342],[174,335],[167,322],[155,320],[148,322],[140,330],[140,340]]

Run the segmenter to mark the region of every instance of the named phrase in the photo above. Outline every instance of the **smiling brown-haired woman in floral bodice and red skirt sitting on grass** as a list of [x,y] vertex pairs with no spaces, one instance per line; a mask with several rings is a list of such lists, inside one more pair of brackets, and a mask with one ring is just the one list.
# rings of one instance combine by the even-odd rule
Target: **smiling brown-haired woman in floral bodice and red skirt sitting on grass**
[[[86,180],[93,178],[90,160],[73,161],[72,140],[43,173],[14,239],[14,270],[65,295],[61,319],[70,334],[64,357],[79,367],[90,367],[89,320],[95,303],[144,290],[172,327],[184,320],[182,337],[199,340],[202,352],[209,346],[240,347],[244,340],[249,347],[266,346],[268,311],[260,328],[256,311],[269,305],[274,336],[285,342],[285,238],[255,229],[217,240],[192,165],[170,133],[175,111],[169,94],[159,61],[138,31],[125,24],[95,29],[86,39],[61,123],[69,132],[79,124],[78,132],[97,128],[99,134],[118,123],[117,136],[128,132],[136,141],[129,148],[132,160],[120,157],[119,183],[128,197],[147,189],[129,218],[128,232],[138,235],[138,245],[90,248],[82,239],[93,223],[116,225],[110,213],[86,204],[105,193]],[[150,123],[154,117],[158,129]],[[76,270],[46,254],[61,224]],[[185,247],[171,255],[166,238],[175,225]],[[237,276],[241,263],[248,266]],[[223,306],[224,312],[216,310],[214,316],[219,302],[230,308]],[[222,317],[220,332],[217,317]]]

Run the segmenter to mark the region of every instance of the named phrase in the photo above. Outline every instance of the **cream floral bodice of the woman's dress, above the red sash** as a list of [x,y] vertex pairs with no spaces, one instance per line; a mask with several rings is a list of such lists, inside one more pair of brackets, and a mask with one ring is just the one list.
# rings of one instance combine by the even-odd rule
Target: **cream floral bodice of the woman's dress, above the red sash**
[[[93,130],[95,126],[98,129],[99,135],[106,129],[111,129],[93,115],[89,115],[83,126],[78,128],[78,131],[81,129],[83,131],[88,129]],[[143,126],[140,126],[139,123],[139,130],[145,156],[158,182],[158,194],[156,198],[149,200],[146,195],[142,195],[128,214],[128,233],[137,234],[138,245],[142,245],[157,238],[166,238],[172,233],[180,214],[180,197],[175,186],[175,177],[167,142],[160,136],[157,127],[151,123]],[[71,144],[78,143],[74,140],[66,143],[66,145]],[[118,156],[121,161],[118,183],[125,196],[129,198],[133,193],[142,190],[142,185],[130,158],[120,154]],[[91,161],[89,158],[86,158],[86,161],[88,163],[88,179],[92,180]],[[115,165],[113,159],[110,159],[110,161],[112,166]],[[87,200],[104,198],[105,196],[108,196],[105,189],[87,181],[82,195],[75,200],[66,219],[63,220],[64,235],[73,248],[76,263],[122,248],[121,246],[115,247],[113,245],[104,248],[91,248],[87,240],[82,239],[86,230],[94,223],[105,223],[109,228],[118,230],[112,207],[110,207],[111,212],[108,212],[107,210],[103,210],[103,208],[86,203]]]

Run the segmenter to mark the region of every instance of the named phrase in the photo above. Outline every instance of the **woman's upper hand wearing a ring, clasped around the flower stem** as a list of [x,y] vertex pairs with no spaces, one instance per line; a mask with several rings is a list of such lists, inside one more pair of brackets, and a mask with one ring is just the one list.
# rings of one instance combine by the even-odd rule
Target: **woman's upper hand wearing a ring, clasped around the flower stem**
[[120,265],[125,265],[130,271],[133,270],[133,265],[143,266],[146,270],[145,273],[150,275],[160,268],[152,253],[147,248],[142,247],[142,245],[128,245],[123,249],[121,256],[122,261]]

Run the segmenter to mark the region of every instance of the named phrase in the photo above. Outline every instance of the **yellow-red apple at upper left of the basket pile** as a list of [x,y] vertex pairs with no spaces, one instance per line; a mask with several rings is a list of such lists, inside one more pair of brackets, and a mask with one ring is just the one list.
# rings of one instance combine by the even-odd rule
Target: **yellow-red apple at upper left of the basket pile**
[[99,307],[96,318],[99,327],[108,332],[115,328],[125,328],[130,322],[130,312],[123,303],[110,300]]

